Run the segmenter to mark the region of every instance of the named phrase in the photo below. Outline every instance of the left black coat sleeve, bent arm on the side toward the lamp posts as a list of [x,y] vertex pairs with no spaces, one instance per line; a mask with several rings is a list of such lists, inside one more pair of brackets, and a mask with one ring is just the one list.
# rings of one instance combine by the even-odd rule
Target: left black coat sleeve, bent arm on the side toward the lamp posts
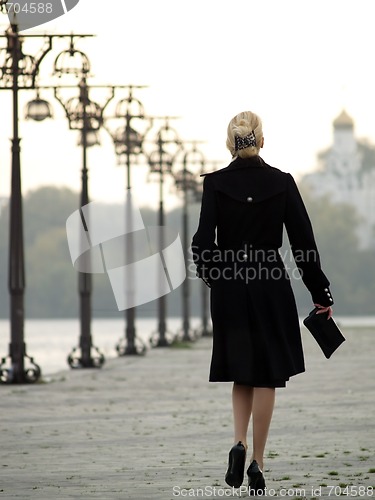
[[191,249],[197,266],[197,276],[210,285],[210,269],[216,245],[217,212],[212,180],[206,176],[203,181],[202,205],[198,229],[193,236]]

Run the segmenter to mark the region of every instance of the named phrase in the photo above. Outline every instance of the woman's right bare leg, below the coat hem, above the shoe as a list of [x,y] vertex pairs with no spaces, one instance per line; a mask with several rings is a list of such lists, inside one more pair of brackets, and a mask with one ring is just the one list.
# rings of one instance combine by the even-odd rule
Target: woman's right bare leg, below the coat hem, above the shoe
[[275,389],[254,387],[253,395],[253,456],[263,470],[263,456],[275,405]]

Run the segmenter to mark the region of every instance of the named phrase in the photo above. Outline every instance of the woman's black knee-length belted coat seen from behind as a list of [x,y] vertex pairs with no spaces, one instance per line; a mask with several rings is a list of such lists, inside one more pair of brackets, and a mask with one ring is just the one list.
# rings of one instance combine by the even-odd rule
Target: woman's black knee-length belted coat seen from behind
[[192,251],[198,276],[211,287],[210,381],[277,387],[304,371],[295,299],[278,251],[284,225],[313,302],[332,305],[293,177],[259,156],[205,176]]

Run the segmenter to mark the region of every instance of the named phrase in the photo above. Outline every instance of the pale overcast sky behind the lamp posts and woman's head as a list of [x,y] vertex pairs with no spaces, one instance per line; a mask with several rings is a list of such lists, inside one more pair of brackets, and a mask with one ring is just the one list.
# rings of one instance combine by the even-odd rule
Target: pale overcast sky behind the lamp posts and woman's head
[[[265,135],[262,157],[298,179],[316,168],[316,154],[331,144],[332,121],[343,108],[355,120],[356,135],[375,142],[374,19],[373,0],[80,0],[69,14],[27,33],[95,34],[79,44],[91,60],[92,83],[148,85],[136,94],[146,112],[179,116],[173,126],[181,138],[205,141],[200,147],[207,160],[222,166],[230,161],[228,121],[246,109],[257,112]],[[6,20],[2,15],[2,31]],[[43,62],[44,83],[64,48],[57,43]],[[33,91],[21,93],[21,110],[33,97]],[[53,121],[21,121],[24,192],[46,184],[80,188],[77,132],[68,130],[56,101],[53,107]],[[0,92],[0,113],[5,196],[9,91]],[[89,151],[91,198],[118,201],[124,167],[116,166],[105,131],[101,138],[102,147]],[[134,171],[140,203],[156,201],[156,185],[146,185],[147,168]]]

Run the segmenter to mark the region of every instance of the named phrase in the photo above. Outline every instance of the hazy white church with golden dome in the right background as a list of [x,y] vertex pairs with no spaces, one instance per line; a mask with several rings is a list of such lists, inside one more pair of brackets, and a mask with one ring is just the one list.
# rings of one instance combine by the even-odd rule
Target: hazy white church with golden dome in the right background
[[333,122],[333,144],[318,155],[318,170],[302,184],[313,192],[329,195],[333,202],[353,205],[362,222],[360,246],[375,247],[375,147],[354,135],[353,119],[342,111]]

